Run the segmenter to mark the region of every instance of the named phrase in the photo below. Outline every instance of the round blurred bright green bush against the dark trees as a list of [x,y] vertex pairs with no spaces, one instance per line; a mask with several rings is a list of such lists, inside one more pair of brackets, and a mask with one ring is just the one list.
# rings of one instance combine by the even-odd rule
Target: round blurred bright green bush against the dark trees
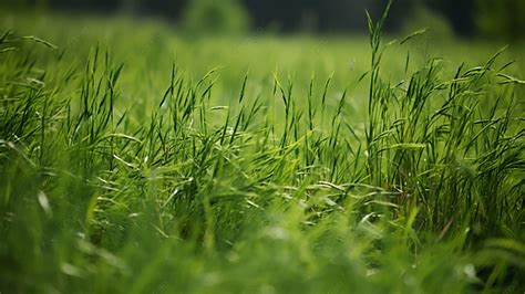
[[193,0],[182,25],[189,34],[238,34],[249,30],[250,19],[237,0]]

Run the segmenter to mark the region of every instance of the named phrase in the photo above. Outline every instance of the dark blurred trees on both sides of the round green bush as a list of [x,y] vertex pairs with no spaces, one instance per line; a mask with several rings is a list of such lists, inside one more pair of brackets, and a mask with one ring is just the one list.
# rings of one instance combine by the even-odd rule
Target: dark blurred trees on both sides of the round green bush
[[[0,7],[44,7],[87,12],[156,15],[179,23],[193,0],[2,0]],[[216,0],[220,2],[220,0]],[[388,0],[239,0],[256,30],[366,32],[368,10],[378,17]],[[459,35],[522,36],[524,0],[393,0],[385,29],[397,31],[425,6],[451,23]]]

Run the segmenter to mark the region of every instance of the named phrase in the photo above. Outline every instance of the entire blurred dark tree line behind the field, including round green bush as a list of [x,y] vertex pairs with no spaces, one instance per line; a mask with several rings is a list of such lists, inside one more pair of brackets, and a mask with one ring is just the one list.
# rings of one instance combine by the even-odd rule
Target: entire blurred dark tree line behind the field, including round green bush
[[[364,10],[378,15],[388,0],[3,0],[9,6],[125,12],[166,18],[194,31],[312,33],[367,31]],[[422,15],[423,14],[423,15]],[[394,0],[388,29],[431,18],[454,34],[522,39],[525,0]],[[435,21],[434,21],[435,22]]]

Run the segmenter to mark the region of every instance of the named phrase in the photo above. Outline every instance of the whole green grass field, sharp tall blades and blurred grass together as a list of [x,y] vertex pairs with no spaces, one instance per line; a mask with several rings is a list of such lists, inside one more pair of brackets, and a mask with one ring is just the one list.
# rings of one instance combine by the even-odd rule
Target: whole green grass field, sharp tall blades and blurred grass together
[[523,293],[523,46],[381,27],[2,14],[0,293]]

